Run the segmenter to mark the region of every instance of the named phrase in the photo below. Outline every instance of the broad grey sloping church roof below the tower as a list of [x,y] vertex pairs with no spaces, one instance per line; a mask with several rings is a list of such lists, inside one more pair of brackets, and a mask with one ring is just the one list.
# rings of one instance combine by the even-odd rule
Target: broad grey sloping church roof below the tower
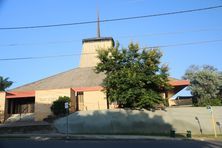
[[105,75],[103,73],[96,74],[92,67],[75,68],[14,88],[10,91],[32,91],[100,86],[104,78]]

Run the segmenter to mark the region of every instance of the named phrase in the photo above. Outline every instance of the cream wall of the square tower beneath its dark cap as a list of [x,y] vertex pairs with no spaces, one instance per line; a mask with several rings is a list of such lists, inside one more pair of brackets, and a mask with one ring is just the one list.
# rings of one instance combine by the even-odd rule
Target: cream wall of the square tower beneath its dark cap
[[[98,63],[97,53],[96,50],[99,48],[107,49],[112,47],[113,42],[112,40],[105,40],[105,41],[93,41],[93,42],[84,42],[83,49],[80,59],[80,66],[79,67],[94,67]],[[90,53],[90,54],[89,54]]]

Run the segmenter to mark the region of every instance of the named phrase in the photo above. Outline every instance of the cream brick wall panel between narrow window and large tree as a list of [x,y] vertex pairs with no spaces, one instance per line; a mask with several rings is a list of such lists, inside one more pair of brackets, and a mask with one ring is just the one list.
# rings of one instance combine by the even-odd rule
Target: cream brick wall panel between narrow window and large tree
[[106,95],[102,91],[84,92],[84,110],[107,109]]

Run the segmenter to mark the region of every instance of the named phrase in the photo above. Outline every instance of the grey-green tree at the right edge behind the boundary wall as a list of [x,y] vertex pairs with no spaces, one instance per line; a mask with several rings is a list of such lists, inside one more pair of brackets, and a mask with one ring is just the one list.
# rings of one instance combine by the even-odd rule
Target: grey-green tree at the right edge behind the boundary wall
[[191,65],[183,76],[190,81],[191,91],[197,106],[221,105],[222,75],[216,68],[209,65]]

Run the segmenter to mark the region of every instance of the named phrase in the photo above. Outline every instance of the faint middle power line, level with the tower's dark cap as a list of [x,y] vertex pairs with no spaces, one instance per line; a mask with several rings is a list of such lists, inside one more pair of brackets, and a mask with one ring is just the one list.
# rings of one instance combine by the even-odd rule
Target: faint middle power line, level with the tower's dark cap
[[[160,33],[150,33],[150,34],[138,34],[138,35],[122,35],[118,38],[135,38],[135,37],[151,37],[151,36],[167,36],[167,35],[177,35],[183,33],[196,33],[196,32],[210,32],[218,31],[222,28],[203,28],[203,29],[191,29],[183,31],[173,31],[173,32],[160,32]],[[48,41],[48,42],[33,42],[33,43],[8,43],[0,44],[0,47],[17,47],[17,46],[35,46],[35,45],[55,45],[55,44],[69,44],[79,42],[79,40],[61,40],[61,41]]]

